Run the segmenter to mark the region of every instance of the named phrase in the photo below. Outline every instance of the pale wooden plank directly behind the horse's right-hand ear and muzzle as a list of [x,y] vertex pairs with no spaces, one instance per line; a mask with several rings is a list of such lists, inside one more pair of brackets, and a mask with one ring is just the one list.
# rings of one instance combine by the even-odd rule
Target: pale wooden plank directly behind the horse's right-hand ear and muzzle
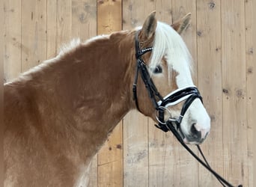
[[[173,22],[185,16],[186,13],[192,13],[189,28],[182,34],[182,37],[194,60],[194,75],[192,76],[194,83],[197,84],[196,1],[173,0],[171,10]],[[199,90],[201,91],[201,88],[199,88]],[[173,171],[175,179],[174,186],[198,186],[198,162],[187,153],[177,140],[174,141],[174,150],[177,149],[177,152],[174,152],[175,154],[173,156],[174,161],[177,163],[177,166],[174,167],[178,169],[178,172]],[[191,148],[197,153],[195,146],[191,146]]]

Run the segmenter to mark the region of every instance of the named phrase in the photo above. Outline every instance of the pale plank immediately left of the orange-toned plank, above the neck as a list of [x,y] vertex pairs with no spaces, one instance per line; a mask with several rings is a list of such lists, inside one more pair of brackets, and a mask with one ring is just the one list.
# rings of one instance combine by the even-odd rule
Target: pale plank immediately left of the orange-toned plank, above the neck
[[97,34],[97,2],[72,1],[72,37],[86,40]]

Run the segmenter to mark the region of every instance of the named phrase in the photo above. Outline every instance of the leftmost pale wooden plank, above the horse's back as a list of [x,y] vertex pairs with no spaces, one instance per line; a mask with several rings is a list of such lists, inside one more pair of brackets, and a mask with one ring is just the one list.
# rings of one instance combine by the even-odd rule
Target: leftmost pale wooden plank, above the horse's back
[[4,82],[21,73],[21,1],[4,0]]

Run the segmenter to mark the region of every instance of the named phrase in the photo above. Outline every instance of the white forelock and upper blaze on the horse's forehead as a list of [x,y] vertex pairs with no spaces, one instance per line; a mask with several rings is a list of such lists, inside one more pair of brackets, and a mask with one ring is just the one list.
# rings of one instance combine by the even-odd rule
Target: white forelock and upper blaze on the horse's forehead
[[168,63],[168,69],[177,71],[177,85],[193,85],[191,78],[192,57],[182,37],[174,28],[163,22],[157,22],[150,67],[161,64],[162,58]]

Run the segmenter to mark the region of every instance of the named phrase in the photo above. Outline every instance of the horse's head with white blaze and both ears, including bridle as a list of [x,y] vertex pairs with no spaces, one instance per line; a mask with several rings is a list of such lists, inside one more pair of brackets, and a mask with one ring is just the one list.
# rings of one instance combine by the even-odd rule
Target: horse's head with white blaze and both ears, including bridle
[[185,143],[200,144],[210,131],[210,117],[192,82],[192,58],[180,37],[189,20],[190,13],[167,25],[153,12],[137,28],[133,93],[138,110],[156,120],[160,129],[166,132],[174,123]]

